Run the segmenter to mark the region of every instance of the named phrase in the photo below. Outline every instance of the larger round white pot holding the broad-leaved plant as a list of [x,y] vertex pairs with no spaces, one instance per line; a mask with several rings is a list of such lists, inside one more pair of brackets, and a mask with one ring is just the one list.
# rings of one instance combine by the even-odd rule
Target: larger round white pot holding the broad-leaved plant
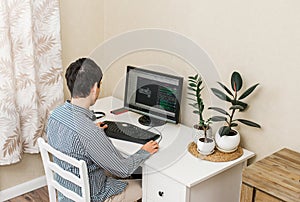
[[[220,130],[220,128],[219,128]],[[220,136],[219,130],[216,132],[215,135],[215,141],[216,141],[216,145],[218,150],[225,152],[225,153],[230,153],[230,152],[234,152],[235,150],[237,150],[239,144],[240,144],[240,133],[238,131],[235,130],[236,135],[233,136]]]

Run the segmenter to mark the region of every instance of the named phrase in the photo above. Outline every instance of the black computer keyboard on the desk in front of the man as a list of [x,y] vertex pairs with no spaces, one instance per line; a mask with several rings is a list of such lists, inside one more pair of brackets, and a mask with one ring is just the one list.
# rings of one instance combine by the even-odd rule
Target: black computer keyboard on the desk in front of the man
[[126,122],[104,121],[103,123],[108,125],[104,130],[106,135],[119,140],[145,144],[150,140],[156,140],[160,137],[159,134]]

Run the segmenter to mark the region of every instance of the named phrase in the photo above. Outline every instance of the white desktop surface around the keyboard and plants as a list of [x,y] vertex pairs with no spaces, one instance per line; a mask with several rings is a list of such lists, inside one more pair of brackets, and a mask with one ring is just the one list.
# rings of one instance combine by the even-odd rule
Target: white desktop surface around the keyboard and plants
[[[99,99],[91,109],[106,113],[106,116],[99,121],[125,121],[141,128],[148,128],[138,123],[140,115],[137,113],[130,111],[119,115],[110,113],[112,109],[122,106],[122,100],[105,97]],[[167,123],[156,127],[156,129],[162,133],[162,140],[159,144],[160,149],[145,162],[145,165],[187,187],[192,187],[254,156],[253,152],[244,149],[244,154],[240,158],[229,162],[209,162],[197,159],[187,151],[188,144],[193,141],[192,128],[182,124]],[[112,139],[112,142],[121,152],[127,155],[135,153],[142,146],[116,139]]]

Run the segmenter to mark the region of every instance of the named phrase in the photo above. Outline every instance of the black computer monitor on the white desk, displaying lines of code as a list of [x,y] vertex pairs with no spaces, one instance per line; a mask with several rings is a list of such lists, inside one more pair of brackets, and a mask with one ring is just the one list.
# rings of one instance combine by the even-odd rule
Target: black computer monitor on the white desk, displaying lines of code
[[183,78],[127,66],[124,107],[142,114],[139,123],[178,123]]

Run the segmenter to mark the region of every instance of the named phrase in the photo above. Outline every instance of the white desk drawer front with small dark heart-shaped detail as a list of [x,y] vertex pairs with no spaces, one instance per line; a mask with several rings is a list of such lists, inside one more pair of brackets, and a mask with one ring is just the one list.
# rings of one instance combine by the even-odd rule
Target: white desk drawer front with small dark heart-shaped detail
[[143,198],[155,202],[186,201],[186,187],[150,168],[144,168]]

